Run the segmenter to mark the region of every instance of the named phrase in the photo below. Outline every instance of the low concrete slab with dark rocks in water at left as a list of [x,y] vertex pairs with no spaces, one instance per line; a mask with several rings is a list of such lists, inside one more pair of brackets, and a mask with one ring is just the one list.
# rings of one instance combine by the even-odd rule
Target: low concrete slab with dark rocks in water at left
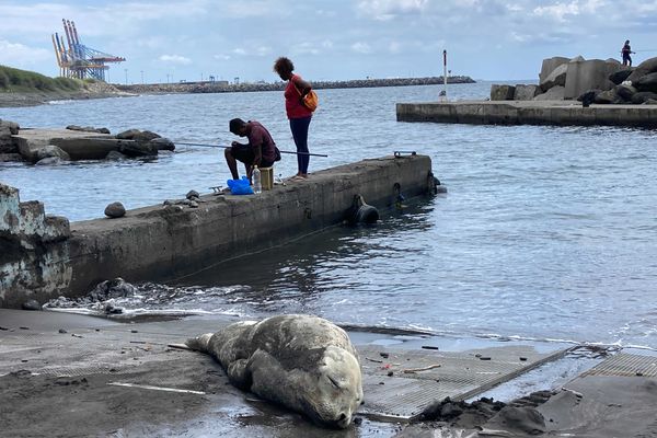
[[[66,129],[21,129],[0,124],[0,162],[27,161],[36,165],[77,160],[120,160],[173,151],[174,143],[149,130],[128,129],[112,135],[107,128],[69,125]],[[5,129],[2,127],[7,126]],[[2,134],[9,131],[10,134]],[[4,146],[3,146],[4,145]]]

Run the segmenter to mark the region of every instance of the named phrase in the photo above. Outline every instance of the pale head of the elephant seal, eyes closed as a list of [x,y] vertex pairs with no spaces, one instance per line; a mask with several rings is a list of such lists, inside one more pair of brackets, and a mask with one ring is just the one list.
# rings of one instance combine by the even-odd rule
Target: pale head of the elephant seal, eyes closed
[[318,371],[313,391],[300,394],[304,412],[322,426],[344,429],[362,404],[360,364],[350,351],[328,346]]

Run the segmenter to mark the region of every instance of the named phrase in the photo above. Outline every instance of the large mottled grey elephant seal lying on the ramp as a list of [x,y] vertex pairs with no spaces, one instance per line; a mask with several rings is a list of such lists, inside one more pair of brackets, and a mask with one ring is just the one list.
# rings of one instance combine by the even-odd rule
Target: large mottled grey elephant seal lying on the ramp
[[233,385],[324,427],[346,428],[362,403],[358,353],[344,330],[322,318],[238,322],[186,345],[219,361]]

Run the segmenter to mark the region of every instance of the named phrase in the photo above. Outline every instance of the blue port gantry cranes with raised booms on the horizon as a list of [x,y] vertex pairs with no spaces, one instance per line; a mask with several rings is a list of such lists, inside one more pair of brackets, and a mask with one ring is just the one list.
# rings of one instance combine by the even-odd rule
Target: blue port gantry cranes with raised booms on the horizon
[[60,76],[77,79],[91,78],[105,82],[105,72],[110,69],[107,64],[126,60],[126,58],[87,47],[80,43],[76,23],[65,19],[61,22],[64,23],[66,43],[64,36],[58,33],[51,35]]

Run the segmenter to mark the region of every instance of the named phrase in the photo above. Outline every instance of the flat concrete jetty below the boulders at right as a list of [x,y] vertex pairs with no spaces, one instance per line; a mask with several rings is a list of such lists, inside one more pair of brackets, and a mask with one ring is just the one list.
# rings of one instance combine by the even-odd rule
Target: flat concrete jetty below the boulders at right
[[574,101],[397,103],[397,122],[473,125],[622,126],[657,128],[657,105],[590,105]]

